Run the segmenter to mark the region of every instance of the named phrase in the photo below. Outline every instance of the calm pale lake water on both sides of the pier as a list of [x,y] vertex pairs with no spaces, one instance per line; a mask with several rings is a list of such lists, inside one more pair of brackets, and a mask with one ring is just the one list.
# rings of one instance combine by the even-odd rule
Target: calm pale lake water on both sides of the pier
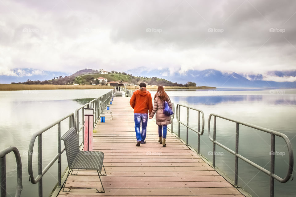
[[[105,94],[109,90],[36,90],[0,92],[0,149],[16,146],[22,155],[23,191],[21,196],[37,196],[38,186],[28,181],[27,151],[34,132],[74,112],[83,103]],[[154,96],[155,91],[150,91]],[[212,162],[212,143],[208,138],[208,116],[210,113],[226,116],[261,127],[279,131],[291,140],[296,152],[296,90],[295,89],[216,89],[216,90],[167,90],[172,102],[188,105],[204,111],[205,132],[201,136],[200,153]],[[186,110],[181,108],[181,121],[186,122]],[[197,128],[197,113],[190,111],[189,125]],[[213,120],[212,120],[213,121]],[[181,137],[186,139],[182,125]],[[68,128],[68,121],[62,123],[62,132]],[[212,126],[211,126],[212,128]],[[178,133],[178,124],[173,122],[173,131]],[[235,123],[217,118],[216,140],[232,150],[235,144]],[[211,130],[212,131],[212,130]],[[270,135],[240,126],[239,153],[270,170]],[[43,135],[43,164],[56,154],[56,128]],[[197,148],[197,135],[189,130],[189,144]],[[34,151],[37,151],[35,145]],[[276,138],[275,173],[285,177],[288,166],[287,148],[282,139]],[[216,166],[234,179],[234,156],[216,146]],[[284,155],[285,154],[285,155]],[[34,174],[37,175],[37,156],[34,160]],[[16,172],[13,154],[7,155],[8,192],[14,196]],[[294,161],[295,162],[295,161]],[[13,163],[13,164],[11,164]],[[62,169],[67,166],[65,154]],[[47,196],[55,186],[56,165],[43,177],[43,193]],[[295,172],[295,171],[294,171]],[[269,176],[239,160],[238,183],[253,196],[269,196]],[[295,196],[294,181],[275,181],[275,196]],[[8,195],[9,196],[9,195]]]

